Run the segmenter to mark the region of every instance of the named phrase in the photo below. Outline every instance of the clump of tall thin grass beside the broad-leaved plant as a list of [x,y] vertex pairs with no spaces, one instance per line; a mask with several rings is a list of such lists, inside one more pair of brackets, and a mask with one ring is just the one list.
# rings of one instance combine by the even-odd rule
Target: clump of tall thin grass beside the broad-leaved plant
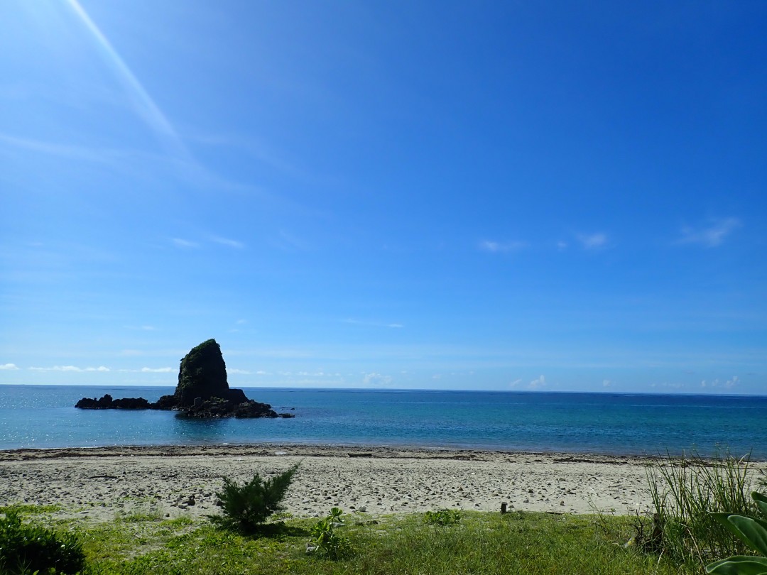
[[742,554],[746,545],[714,514],[755,511],[749,475],[749,458],[729,455],[713,460],[668,457],[650,466],[647,478],[654,514],[644,547],[693,568],[715,557]]

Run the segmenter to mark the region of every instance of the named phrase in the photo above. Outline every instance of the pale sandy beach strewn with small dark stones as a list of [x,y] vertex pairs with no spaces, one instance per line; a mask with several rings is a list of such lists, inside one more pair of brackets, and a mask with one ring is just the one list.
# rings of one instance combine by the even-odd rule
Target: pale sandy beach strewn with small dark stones
[[[0,505],[57,505],[54,517],[110,521],[217,513],[238,482],[301,462],[285,511],[301,517],[439,508],[634,514],[650,505],[649,459],[608,455],[297,445],[21,449],[0,452]],[[752,464],[755,473],[767,468]]]

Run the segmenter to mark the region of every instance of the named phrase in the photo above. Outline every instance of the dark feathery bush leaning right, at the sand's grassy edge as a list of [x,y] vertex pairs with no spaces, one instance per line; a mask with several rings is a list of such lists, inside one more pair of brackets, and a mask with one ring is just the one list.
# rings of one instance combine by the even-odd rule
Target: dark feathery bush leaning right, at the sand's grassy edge
[[210,515],[210,519],[246,533],[257,531],[270,515],[283,508],[280,502],[285,498],[298,465],[268,479],[256,472],[242,486],[225,477],[224,488],[216,493],[223,515]]

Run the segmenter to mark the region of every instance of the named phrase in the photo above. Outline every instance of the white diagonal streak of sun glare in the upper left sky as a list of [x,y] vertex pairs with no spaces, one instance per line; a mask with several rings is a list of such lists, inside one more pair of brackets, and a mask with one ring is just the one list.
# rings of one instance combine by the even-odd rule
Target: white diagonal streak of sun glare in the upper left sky
[[87,12],[77,0],[67,0],[67,4],[70,5],[77,17],[80,18],[85,28],[91,32],[107,64],[114,69],[119,80],[127,87],[136,112],[156,133],[156,136],[168,152],[176,159],[191,162],[189,151],[184,146],[176,130],[174,130],[165,114],[157,107],[150,95],[146,93],[146,90],[144,90],[137,77],[133,75],[133,72],[130,71],[127,64],[120,58],[120,54],[117,54],[117,51],[110,44],[110,41],[107,40],[107,37],[101,33],[98,26],[91,20],[91,17],[87,15]]

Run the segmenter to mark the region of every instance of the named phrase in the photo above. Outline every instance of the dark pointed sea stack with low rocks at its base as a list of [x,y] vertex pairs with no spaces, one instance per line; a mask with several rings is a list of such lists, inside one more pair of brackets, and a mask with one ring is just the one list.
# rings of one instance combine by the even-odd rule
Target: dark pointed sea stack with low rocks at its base
[[268,403],[258,403],[245,396],[242,389],[229,389],[226,364],[216,340],[203,341],[181,360],[179,383],[172,396],[162,396],[155,403],[143,397],[101,399],[84,397],[79,409],[173,409],[179,416],[194,418],[219,417],[295,417],[278,414]]

